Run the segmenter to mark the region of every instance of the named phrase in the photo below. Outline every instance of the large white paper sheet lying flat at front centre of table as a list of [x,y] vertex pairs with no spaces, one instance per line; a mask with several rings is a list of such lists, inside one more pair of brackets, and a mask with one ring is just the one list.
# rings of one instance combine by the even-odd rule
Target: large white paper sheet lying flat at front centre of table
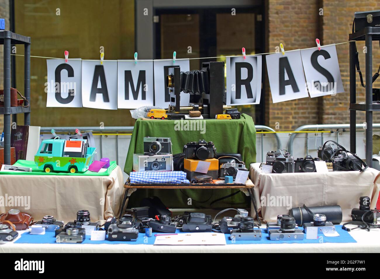
[[179,233],[157,236],[154,245],[226,245],[226,238],[224,233]]

